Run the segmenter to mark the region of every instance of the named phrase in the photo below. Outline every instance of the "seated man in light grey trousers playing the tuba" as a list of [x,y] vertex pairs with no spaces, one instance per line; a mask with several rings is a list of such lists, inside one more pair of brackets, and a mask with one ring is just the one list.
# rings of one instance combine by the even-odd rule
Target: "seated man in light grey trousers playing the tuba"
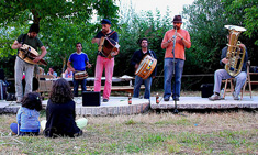
[[[227,40],[228,40],[228,35],[227,35]],[[228,47],[226,46],[222,49],[220,64],[223,67],[225,66],[225,64],[228,63],[228,59],[226,58],[227,48]],[[242,51],[245,49],[246,53],[245,53],[245,58],[244,58],[242,71],[235,77],[236,85],[235,85],[235,90],[232,93],[234,100],[239,100],[238,96],[240,93],[240,89],[244,86],[244,84],[246,81],[246,77],[247,77],[246,63],[248,60],[248,54],[247,54],[247,51],[246,51],[246,46],[244,44],[239,44],[239,48]],[[214,73],[214,89],[213,89],[214,93],[209,98],[209,100],[212,100],[212,101],[221,100],[220,91],[221,91],[222,79],[228,79],[228,78],[233,78],[233,77],[226,71],[226,69],[217,69]]]

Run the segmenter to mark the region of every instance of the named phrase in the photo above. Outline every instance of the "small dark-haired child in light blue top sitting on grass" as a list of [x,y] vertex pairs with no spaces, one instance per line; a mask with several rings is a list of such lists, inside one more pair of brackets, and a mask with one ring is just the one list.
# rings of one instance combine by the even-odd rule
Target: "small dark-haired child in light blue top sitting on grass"
[[10,125],[12,135],[38,135],[40,133],[40,111],[42,101],[37,92],[29,92],[22,99],[22,107],[16,114],[18,123]]

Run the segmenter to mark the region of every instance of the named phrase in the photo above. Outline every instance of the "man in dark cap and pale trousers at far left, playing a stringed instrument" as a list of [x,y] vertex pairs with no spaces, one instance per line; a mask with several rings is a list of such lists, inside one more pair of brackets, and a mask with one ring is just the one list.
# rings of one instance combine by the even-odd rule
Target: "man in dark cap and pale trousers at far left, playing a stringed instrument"
[[[40,32],[38,24],[32,24],[30,26],[27,34],[21,34],[16,41],[12,44],[12,49],[19,49],[22,47],[23,44],[27,44],[32,46],[34,49],[41,48],[42,54],[38,55],[33,59],[34,63],[37,63],[41,60],[47,53],[45,46],[43,46],[40,38],[37,38],[37,34]],[[33,79],[33,70],[34,65],[29,64],[24,60],[22,60],[20,57],[16,56],[15,66],[14,66],[14,78],[15,78],[15,97],[16,97],[16,103],[21,103],[22,98],[25,93],[29,93],[32,91],[32,79]],[[25,92],[23,95],[23,87],[22,87],[22,76],[23,73],[25,74]]]

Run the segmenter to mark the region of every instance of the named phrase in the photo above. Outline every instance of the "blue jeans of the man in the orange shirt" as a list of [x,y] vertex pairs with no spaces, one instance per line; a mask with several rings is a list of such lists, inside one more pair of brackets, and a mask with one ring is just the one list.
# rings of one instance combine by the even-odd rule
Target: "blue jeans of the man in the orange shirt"
[[[183,71],[183,59],[175,58],[175,79],[176,84],[173,82],[172,89],[172,98],[180,97],[180,89],[181,89],[181,78]],[[171,80],[173,76],[173,58],[165,58],[164,60],[164,97],[171,96]]]

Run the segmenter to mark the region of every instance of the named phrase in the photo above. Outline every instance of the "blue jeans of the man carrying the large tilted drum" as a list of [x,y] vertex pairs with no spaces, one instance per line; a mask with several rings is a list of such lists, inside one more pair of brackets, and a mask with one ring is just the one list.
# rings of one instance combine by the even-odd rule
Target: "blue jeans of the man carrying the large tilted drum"
[[143,79],[139,76],[135,76],[135,82],[134,82],[134,98],[138,98],[141,85],[144,82],[145,86],[145,92],[144,98],[149,99],[150,97],[150,86],[152,86],[153,77],[148,77],[147,79]]

